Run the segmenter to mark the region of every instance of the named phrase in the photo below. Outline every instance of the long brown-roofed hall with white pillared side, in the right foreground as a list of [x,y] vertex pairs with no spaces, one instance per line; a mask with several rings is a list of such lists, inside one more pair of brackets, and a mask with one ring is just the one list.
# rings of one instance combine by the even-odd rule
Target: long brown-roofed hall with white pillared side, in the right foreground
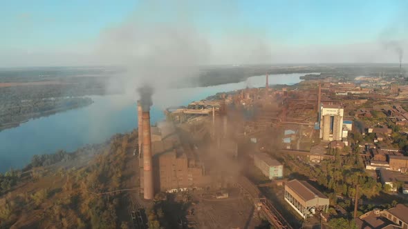
[[285,201],[304,219],[316,212],[328,210],[328,197],[306,181],[294,179],[285,185]]

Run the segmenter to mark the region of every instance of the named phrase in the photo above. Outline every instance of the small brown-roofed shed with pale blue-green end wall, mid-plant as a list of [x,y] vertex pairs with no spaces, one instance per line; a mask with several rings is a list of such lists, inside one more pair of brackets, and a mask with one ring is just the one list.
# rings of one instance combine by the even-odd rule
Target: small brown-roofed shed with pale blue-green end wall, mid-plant
[[254,154],[254,165],[271,180],[284,177],[284,166],[266,153],[258,152]]

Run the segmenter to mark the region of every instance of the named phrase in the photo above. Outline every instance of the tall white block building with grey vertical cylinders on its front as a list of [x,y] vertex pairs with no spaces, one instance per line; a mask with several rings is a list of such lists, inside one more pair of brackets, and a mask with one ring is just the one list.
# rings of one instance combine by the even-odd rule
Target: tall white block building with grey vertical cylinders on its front
[[320,138],[324,141],[342,140],[344,109],[324,103],[320,107]]

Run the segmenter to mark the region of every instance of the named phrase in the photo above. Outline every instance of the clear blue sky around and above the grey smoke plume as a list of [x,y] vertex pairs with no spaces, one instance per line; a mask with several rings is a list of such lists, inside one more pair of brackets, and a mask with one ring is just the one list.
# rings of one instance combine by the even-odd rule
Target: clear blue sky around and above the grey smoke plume
[[[0,61],[16,55],[29,65],[30,57],[21,55],[36,53],[37,59],[44,53],[48,59],[67,52],[91,55],[106,29],[121,26],[132,17],[160,23],[177,14],[187,14],[183,19],[210,39],[228,37],[232,31],[252,34],[274,50],[279,47],[276,54],[285,48],[293,54],[295,49],[329,52],[358,44],[369,49],[382,37],[408,37],[408,1],[192,2],[155,1],[163,6],[150,12],[137,1],[4,1],[0,8]],[[35,63],[46,66],[46,60]],[[9,58],[6,62],[10,63],[3,65],[18,66],[16,61]],[[57,63],[63,65],[64,61],[68,59]]]

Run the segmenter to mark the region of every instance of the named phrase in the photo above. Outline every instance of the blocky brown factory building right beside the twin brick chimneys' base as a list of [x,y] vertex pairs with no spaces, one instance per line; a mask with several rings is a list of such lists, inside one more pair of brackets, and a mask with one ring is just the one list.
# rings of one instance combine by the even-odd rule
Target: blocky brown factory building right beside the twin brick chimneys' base
[[[147,128],[143,126],[145,131]],[[151,155],[155,192],[177,192],[189,188],[205,188],[210,176],[188,145],[182,145],[171,122],[159,122],[151,128]],[[143,141],[145,143],[145,141]],[[140,189],[145,193],[145,166],[140,160]]]

